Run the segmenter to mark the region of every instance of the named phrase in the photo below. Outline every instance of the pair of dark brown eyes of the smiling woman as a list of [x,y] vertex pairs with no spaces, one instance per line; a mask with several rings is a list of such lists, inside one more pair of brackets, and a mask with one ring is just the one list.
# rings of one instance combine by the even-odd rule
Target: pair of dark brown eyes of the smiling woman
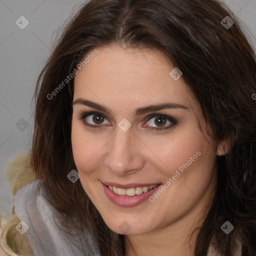
[[[82,120],[84,125],[90,126],[93,128],[101,128],[101,126],[102,126],[101,124],[108,124],[108,122],[102,123],[104,121],[104,119],[106,119],[106,117],[103,114],[98,113],[98,112],[84,112],[81,114],[79,119]],[[167,122],[169,122],[169,125],[163,127]],[[96,125],[92,124],[92,123],[96,123]],[[149,125],[147,124],[145,127],[149,127],[149,129],[163,130],[163,129],[171,128],[172,126],[174,126],[177,123],[177,121],[176,121],[176,119],[174,119],[168,115],[151,114],[147,118],[147,123]],[[152,127],[151,125],[153,125],[153,124],[155,124],[156,127]],[[160,126],[158,126],[158,125],[160,125]]]

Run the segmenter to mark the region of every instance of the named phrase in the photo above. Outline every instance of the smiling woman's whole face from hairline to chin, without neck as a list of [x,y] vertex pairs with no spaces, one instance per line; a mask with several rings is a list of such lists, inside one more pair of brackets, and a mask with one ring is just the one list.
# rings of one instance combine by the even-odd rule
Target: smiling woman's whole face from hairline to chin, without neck
[[208,207],[216,184],[218,149],[202,113],[160,52],[97,50],[74,78],[71,140],[80,182],[117,233],[185,226]]

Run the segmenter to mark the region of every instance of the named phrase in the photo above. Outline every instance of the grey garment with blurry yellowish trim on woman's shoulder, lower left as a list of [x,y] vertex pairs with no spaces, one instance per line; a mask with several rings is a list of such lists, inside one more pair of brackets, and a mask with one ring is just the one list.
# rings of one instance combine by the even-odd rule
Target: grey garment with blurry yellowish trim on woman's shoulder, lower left
[[[72,237],[63,231],[58,212],[45,197],[44,182],[34,178],[29,163],[28,156],[20,156],[7,170],[13,196],[12,215],[3,226],[2,235],[12,250],[6,249],[7,255],[100,255],[88,230]],[[9,239],[10,233],[18,239]]]

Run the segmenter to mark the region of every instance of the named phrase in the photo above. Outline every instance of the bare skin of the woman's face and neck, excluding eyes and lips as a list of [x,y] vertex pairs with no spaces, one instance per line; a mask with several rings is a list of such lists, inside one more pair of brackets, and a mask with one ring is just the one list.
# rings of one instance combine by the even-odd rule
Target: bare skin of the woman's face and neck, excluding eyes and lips
[[[195,236],[189,237],[207,213],[216,188],[216,155],[223,144],[207,134],[198,103],[182,80],[169,72],[173,65],[157,50],[97,47],[98,53],[74,78],[73,101],[88,99],[110,108],[113,114],[83,104],[73,105],[71,141],[80,182],[106,225],[123,233],[126,221],[125,255],[193,255]],[[134,116],[135,109],[149,104],[174,102],[187,109],[166,108]],[[105,118],[84,125],[80,115],[97,111]],[[165,114],[177,124],[162,131],[150,114]],[[198,119],[202,132],[198,127]],[[126,118],[131,127],[118,123]],[[171,123],[164,119],[164,127]],[[123,207],[105,195],[101,181],[116,183],[166,183],[197,151],[200,156],[154,202]],[[195,232],[196,233],[196,232]]]

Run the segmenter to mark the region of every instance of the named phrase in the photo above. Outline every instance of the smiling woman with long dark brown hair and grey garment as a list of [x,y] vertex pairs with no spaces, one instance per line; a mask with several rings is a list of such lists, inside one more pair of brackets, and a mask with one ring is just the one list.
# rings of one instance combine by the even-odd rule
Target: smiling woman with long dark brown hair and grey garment
[[[25,236],[15,241],[5,222],[8,247],[254,255],[255,70],[217,0],[82,6],[38,78],[36,179],[14,196],[13,226]],[[6,230],[18,236],[8,241]]]

